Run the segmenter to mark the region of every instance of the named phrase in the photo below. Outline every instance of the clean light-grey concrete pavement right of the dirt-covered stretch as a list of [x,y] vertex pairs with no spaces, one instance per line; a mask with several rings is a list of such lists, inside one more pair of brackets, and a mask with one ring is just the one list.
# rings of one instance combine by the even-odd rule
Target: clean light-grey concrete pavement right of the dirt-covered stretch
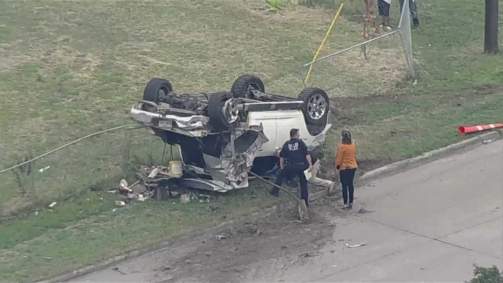
[[474,263],[503,267],[501,140],[382,179],[356,196],[375,212],[334,220],[334,241],[321,256],[260,279],[462,282],[473,277]]

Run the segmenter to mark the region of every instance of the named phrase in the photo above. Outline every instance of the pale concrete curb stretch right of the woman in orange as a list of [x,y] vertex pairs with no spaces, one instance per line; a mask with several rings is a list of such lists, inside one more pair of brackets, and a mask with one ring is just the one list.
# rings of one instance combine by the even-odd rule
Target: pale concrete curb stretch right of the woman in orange
[[379,167],[377,169],[371,170],[363,174],[358,180],[360,182],[368,182],[374,179],[388,177],[390,175],[408,171],[423,164],[455,154],[457,151],[461,149],[474,147],[479,144],[487,143],[489,142],[489,140],[494,141],[501,138],[503,138],[503,131],[490,131],[469,139],[465,139],[462,142],[452,144],[445,148],[427,152],[414,158],[398,161],[383,167]]

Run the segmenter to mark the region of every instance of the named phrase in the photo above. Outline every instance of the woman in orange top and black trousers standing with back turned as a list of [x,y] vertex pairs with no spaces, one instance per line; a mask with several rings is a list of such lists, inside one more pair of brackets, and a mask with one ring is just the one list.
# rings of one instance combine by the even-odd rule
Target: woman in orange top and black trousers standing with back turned
[[[349,131],[342,132],[342,144],[339,146],[336,155],[336,168],[339,170],[341,183],[343,185],[343,199],[344,206],[348,209],[353,208],[353,192],[355,187],[353,179],[355,178],[356,168],[356,149],[355,144],[351,140],[351,133]],[[349,201],[348,201],[349,193]]]

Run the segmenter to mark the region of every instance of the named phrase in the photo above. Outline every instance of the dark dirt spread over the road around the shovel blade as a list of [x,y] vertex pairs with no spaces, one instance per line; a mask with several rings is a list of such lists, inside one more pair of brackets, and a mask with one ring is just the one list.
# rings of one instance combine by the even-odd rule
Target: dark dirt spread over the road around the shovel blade
[[332,197],[312,201],[308,225],[296,221],[296,211],[287,211],[211,235],[193,243],[191,251],[183,256],[156,256],[153,273],[148,277],[155,282],[241,281],[246,280],[244,274],[260,270],[258,265],[263,260],[286,266],[316,256],[331,241],[336,229],[333,217],[347,213],[334,209],[337,200]]

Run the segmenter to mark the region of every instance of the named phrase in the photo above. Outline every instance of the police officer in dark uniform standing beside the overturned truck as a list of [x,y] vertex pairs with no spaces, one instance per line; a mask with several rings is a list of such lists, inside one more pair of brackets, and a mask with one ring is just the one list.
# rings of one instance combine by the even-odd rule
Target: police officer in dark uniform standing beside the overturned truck
[[[280,173],[276,178],[276,185],[281,187],[283,180],[287,179],[289,176],[298,176],[300,183],[300,198],[305,200],[306,205],[308,205],[308,192],[304,171],[308,168],[309,170],[312,168],[312,163],[307,146],[300,139],[299,129],[291,129],[290,139],[287,140],[280,151]],[[273,187],[270,193],[274,196],[278,196],[279,189]]]

